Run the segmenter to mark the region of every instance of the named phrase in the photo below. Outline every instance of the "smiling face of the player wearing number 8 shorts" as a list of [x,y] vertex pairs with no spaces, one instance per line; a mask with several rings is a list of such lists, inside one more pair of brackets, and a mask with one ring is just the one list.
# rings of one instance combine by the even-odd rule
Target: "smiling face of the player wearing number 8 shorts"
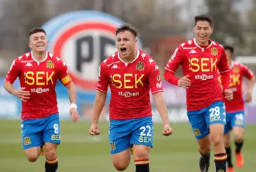
[[44,52],[47,48],[48,43],[49,42],[47,41],[46,35],[43,32],[37,32],[30,35],[29,46],[35,52]]

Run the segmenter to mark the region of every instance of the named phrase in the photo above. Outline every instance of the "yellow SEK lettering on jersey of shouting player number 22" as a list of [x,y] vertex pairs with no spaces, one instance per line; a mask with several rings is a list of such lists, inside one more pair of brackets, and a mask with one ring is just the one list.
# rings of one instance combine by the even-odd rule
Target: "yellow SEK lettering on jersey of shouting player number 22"
[[112,85],[114,85],[117,88],[123,87],[126,89],[133,89],[144,86],[144,84],[142,83],[143,76],[144,74],[140,76],[138,74],[114,74],[113,76],[110,76],[110,79]]

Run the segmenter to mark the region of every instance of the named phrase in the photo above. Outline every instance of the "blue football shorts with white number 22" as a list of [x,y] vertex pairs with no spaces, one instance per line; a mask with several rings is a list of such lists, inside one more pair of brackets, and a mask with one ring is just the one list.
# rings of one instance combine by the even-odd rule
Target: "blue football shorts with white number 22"
[[151,116],[131,120],[110,120],[110,153],[120,153],[132,147],[133,144],[153,147],[153,120]]

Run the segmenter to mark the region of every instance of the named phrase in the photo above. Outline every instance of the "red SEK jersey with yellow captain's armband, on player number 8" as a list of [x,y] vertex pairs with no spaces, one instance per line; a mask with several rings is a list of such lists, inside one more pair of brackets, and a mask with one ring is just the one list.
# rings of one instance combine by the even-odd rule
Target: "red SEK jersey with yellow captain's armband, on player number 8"
[[16,58],[6,75],[6,81],[13,84],[17,77],[21,87],[30,92],[30,99],[22,101],[22,120],[45,118],[58,113],[56,83],[58,79],[63,85],[72,83],[67,74],[67,65],[49,52],[41,62],[36,61],[32,52]]

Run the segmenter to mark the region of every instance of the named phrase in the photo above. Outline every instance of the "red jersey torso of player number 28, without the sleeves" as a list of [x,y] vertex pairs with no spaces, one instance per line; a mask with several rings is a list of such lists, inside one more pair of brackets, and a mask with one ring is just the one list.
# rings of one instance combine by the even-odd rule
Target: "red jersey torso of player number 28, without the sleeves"
[[191,86],[186,89],[189,110],[202,109],[223,99],[217,80],[221,48],[214,41],[208,47],[200,47],[195,41],[188,41],[184,45],[182,69],[184,76],[189,75],[191,80]]

